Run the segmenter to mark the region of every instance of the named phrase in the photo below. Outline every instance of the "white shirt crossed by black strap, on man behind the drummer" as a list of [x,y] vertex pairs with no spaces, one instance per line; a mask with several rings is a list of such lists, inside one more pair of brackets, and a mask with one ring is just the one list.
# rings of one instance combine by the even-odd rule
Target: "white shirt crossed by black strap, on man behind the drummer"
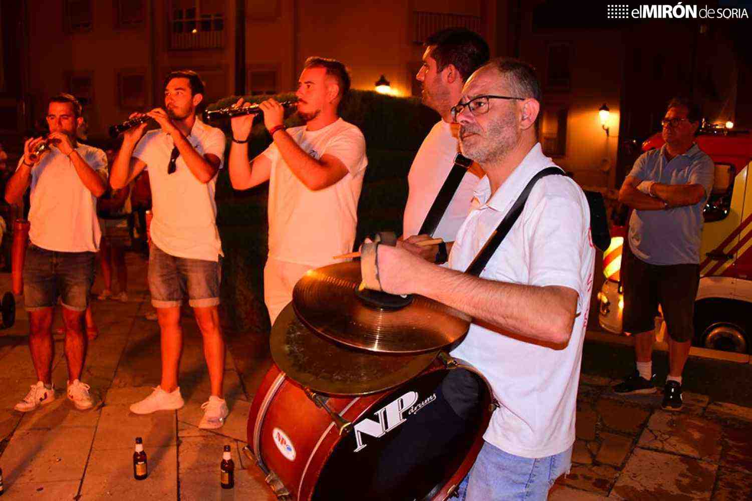
[[[459,153],[458,129],[459,124],[440,120],[423,139],[423,144],[420,144],[408,174],[410,192],[402,219],[402,235],[405,238],[418,234],[438,191],[449,177],[454,157]],[[465,174],[433,232],[435,238],[454,240],[459,226],[462,226],[462,221],[470,211],[470,202],[478,181],[478,176],[471,172]]]

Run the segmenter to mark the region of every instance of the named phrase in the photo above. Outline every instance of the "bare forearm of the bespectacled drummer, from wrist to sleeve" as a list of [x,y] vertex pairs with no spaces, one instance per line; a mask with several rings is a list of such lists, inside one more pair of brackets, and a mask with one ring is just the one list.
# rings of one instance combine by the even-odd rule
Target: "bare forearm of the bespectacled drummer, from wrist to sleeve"
[[[572,333],[577,293],[569,301],[559,287],[508,284],[430,263],[414,271],[416,292],[498,326],[502,331],[556,345]],[[571,304],[570,304],[571,303]]]

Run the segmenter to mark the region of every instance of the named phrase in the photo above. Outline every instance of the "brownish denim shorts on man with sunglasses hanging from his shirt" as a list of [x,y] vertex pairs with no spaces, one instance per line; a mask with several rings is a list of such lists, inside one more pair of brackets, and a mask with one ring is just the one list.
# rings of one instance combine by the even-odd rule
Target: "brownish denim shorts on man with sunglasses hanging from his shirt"
[[219,261],[175,257],[154,244],[149,247],[149,291],[154,308],[180,306],[186,293],[193,308],[219,305],[221,275]]

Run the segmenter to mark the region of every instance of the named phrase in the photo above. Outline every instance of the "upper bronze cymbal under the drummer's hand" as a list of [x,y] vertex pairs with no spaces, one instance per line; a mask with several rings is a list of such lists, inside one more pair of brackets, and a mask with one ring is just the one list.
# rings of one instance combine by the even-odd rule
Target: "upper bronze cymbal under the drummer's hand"
[[357,293],[356,261],[313,269],[293,289],[299,319],[322,336],[344,345],[379,353],[421,353],[444,348],[468,331],[470,317],[423,296],[373,293],[397,299],[378,305]]

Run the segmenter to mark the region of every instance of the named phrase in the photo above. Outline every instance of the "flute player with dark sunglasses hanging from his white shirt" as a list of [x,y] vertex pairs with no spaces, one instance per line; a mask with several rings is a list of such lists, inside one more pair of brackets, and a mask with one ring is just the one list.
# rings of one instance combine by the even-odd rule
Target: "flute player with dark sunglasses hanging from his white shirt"
[[[110,175],[110,184],[117,189],[148,169],[153,201],[149,290],[162,337],[162,379],[153,393],[130,409],[150,414],[183,407],[177,385],[183,348],[180,305],[188,296],[203,336],[211,382],[199,428],[219,428],[229,410],[223,399],[225,344],[217,312],[222,244],[214,189],[225,136],[196,117],[204,99],[204,83],[196,71],[171,72],[164,90],[165,107],[146,114],[160,129],[144,135],[147,123],[142,123],[126,131]],[[142,116],[136,113],[131,118]]]

